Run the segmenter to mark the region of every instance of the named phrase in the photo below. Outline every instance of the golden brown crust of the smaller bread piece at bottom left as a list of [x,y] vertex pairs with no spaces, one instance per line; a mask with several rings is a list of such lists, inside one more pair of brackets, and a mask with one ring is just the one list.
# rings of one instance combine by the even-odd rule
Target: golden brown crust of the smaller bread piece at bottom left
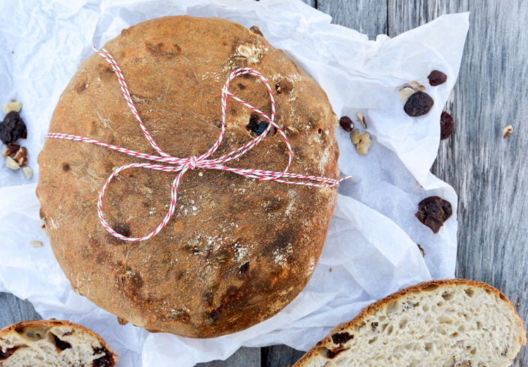
[[112,356],[112,366],[114,366],[118,359],[117,354],[114,353],[114,351],[109,347],[107,342],[104,341],[100,335],[98,335],[96,332],[88,329],[88,327],[84,327],[83,325],[78,325],[76,323],[71,323],[68,320],[25,320],[21,321],[20,323],[16,323],[13,325],[8,325],[4,327],[4,329],[0,330],[0,339],[2,337],[7,337],[8,335],[11,335],[14,332],[28,332],[32,330],[45,330],[50,327],[56,327],[56,326],[64,326],[64,327],[71,327],[71,329],[76,330],[76,332],[85,333],[88,335],[91,335],[97,341],[99,341],[102,344],[102,348],[104,349],[106,354],[110,354]]

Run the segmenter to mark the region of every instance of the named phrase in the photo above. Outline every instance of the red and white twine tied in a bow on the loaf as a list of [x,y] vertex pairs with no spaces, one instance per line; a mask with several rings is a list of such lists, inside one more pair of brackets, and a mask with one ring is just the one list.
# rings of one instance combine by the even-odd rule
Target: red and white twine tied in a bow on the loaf
[[[117,150],[118,152],[124,152],[128,155],[133,155],[134,157],[143,158],[144,160],[152,160],[155,162],[162,162],[166,164],[173,164],[172,166],[164,166],[162,164],[151,164],[151,163],[131,163],[126,164],[126,166],[119,167],[118,169],[115,169],[114,172],[109,176],[106,183],[102,186],[101,193],[99,195],[99,200],[97,200],[97,215],[99,216],[99,219],[105,229],[112,234],[112,236],[117,237],[118,239],[122,239],[124,241],[143,241],[145,239],[151,239],[153,236],[158,234],[163,227],[169,222],[169,219],[171,219],[172,215],[174,214],[174,210],[176,209],[176,195],[178,193],[178,186],[179,182],[181,180],[181,176],[185,174],[185,172],[188,171],[188,169],[195,169],[195,168],[205,168],[205,169],[219,169],[221,171],[229,171],[233,172],[235,174],[240,174],[242,176],[249,177],[251,179],[259,179],[264,181],[276,181],[280,183],[289,183],[294,185],[304,185],[304,186],[315,186],[315,187],[326,187],[330,188],[333,186],[338,186],[339,183],[343,180],[350,179],[350,176],[344,177],[340,180],[335,179],[329,179],[327,177],[318,177],[318,176],[304,176],[302,174],[290,174],[288,173],[289,165],[292,163],[292,147],[289,145],[289,141],[286,138],[286,135],[284,135],[284,131],[275,124],[275,101],[273,100],[273,94],[270,88],[270,85],[268,84],[268,80],[262,76],[258,71],[252,69],[252,68],[239,68],[238,70],[233,71],[229,78],[227,78],[227,81],[224,84],[224,87],[222,88],[222,131],[220,132],[220,137],[216,141],[214,145],[203,155],[200,155],[200,157],[187,157],[187,158],[178,158],[178,157],[172,157],[171,155],[168,155],[166,152],[164,152],[152,139],[152,136],[147,131],[147,128],[145,128],[145,125],[143,125],[143,122],[141,121],[141,118],[138,114],[138,110],[136,109],[136,106],[134,106],[134,102],[132,101],[132,98],[130,96],[130,93],[128,92],[128,87],[126,86],[125,79],[123,76],[123,73],[121,73],[121,69],[117,65],[117,62],[115,59],[110,55],[106,49],[102,49],[103,52],[97,51],[97,49],[93,48],[97,54],[100,54],[110,66],[112,66],[112,69],[114,69],[114,73],[116,73],[117,80],[119,81],[119,85],[121,85],[121,91],[123,92],[123,95],[125,97],[125,101],[128,104],[128,107],[130,107],[132,113],[134,116],[136,116],[136,119],[138,120],[139,126],[141,127],[141,130],[143,130],[143,134],[145,135],[145,138],[147,138],[150,145],[152,145],[152,148],[154,148],[158,153],[160,153],[159,156],[157,155],[149,155],[146,153],[140,153],[135,152],[134,150],[129,150],[126,148],[117,147],[116,145],[101,143],[100,141],[85,138],[84,136],[75,136],[70,134],[64,134],[64,133],[48,133],[45,138],[54,138],[54,139],[65,139],[65,140],[75,140],[75,141],[82,141],[85,143],[92,143],[95,145],[102,145],[104,147]],[[235,97],[232,95],[229,91],[229,82],[236,78],[237,76],[241,76],[244,74],[249,74],[251,76],[256,76],[260,80],[262,80],[265,84],[265,87],[268,89],[268,93],[270,95],[271,100],[271,116],[268,117],[265,115],[262,111],[256,109],[255,107],[251,106],[251,104],[248,104],[247,102],[244,102],[243,100],[239,99],[238,97]],[[244,106],[249,107],[250,109],[253,109],[253,111],[257,112],[261,116],[263,116],[264,119],[266,119],[270,124],[268,125],[268,128],[260,134],[257,138],[251,140],[249,143],[244,145],[243,147],[237,148],[236,150],[233,150],[232,152],[227,153],[226,155],[222,155],[222,157],[215,158],[214,160],[208,160],[207,158],[210,157],[220,146],[220,143],[222,143],[222,139],[224,138],[224,128],[225,128],[225,109],[226,109],[226,103],[227,103],[227,97],[232,97],[237,102],[240,102],[241,104],[244,104]],[[272,172],[272,171],[263,171],[261,169],[240,169],[240,168],[232,168],[232,167],[226,167],[223,164],[226,162],[229,162],[231,160],[235,160],[236,158],[241,157],[241,155],[244,155],[244,153],[248,152],[248,150],[251,150],[254,146],[256,146],[258,143],[260,143],[260,140],[263,140],[266,135],[270,132],[270,129],[272,126],[275,126],[277,128],[277,131],[282,135],[282,138],[284,138],[284,141],[286,142],[287,148],[288,148],[288,164],[283,172]],[[139,238],[131,238],[127,236],[123,236],[122,234],[117,233],[110,227],[110,225],[107,223],[107,221],[104,219],[103,212],[102,212],[102,198],[104,196],[104,191],[107,190],[107,187],[112,181],[112,179],[119,174],[119,172],[124,171],[125,169],[129,168],[135,168],[135,167],[143,167],[148,169],[155,169],[157,171],[164,171],[164,172],[179,172],[179,174],[176,175],[176,179],[172,182],[172,190],[171,190],[171,203],[169,206],[169,212],[167,212],[167,215],[164,217],[162,222],[157,226],[157,228],[150,232],[147,236],[139,237]],[[312,182],[299,182],[299,181],[287,181],[287,179],[304,179],[308,181],[316,181],[320,183],[312,183]]]

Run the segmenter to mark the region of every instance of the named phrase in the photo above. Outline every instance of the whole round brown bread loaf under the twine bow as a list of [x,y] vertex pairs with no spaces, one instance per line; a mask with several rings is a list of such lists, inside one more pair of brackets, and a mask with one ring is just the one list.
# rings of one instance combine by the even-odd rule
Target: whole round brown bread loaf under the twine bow
[[[275,121],[294,152],[290,172],[337,179],[337,119],[328,97],[253,30],[219,18],[157,18],[123,30],[104,47],[119,63],[152,138],[170,155],[201,155],[215,143],[222,86],[233,70],[249,66],[275,89]],[[255,77],[234,79],[229,91],[270,114],[268,92]],[[229,99],[224,140],[212,158],[255,138],[251,127],[261,120]],[[112,68],[97,55],[64,90],[50,132],[156,153]],[[282,171],[287,148],[273,132],[227,165]],[[76,292],[152,332],[217,337],[270,318],[304,288],[323,248],[335,188],[190,170],[167,226],[150,240],[126,242],[100,224],[97,197],[112,169],[131,162],[150,161],[70,140],[44,143],[37,188],[41,217]],[[116,176],[104,197],[112,228],[132,237],[155,229],[167,213],[175,176],[148,169]]]

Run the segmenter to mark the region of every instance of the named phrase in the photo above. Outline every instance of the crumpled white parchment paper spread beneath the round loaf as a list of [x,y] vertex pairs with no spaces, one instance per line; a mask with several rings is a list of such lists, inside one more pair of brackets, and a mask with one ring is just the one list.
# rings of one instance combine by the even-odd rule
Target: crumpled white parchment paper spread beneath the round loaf
[[[119,325],[114,315],[73,293],[40,229],[35,196],[37,154],[54,106],[92,45],[102,47],[143,20],[181,14],[258,25],[271,44],[318,81],[338,116],[364,113],[373,140],[368,155],[361,157],[349,133],[337,128],[340,169],[354,179],[339,188],[325,248],[306,289],[275,317],[215,339]],[[186,367],[226,359],[243,345],[310,349],[368,303],[431,277],[453,277],[457,195],[429,169],[438,152],[440,112],[457,79],[468,18],[467,13],[441,16],[392,40],[380,35],[371,41],[331,25],[330,16],[298,0],[1,2],[0,103],[11,98],[23,102],[21,116],[29,131],[23,144],[35,176],[28,182],[22,172],[0,165],[0,291],[29,299],[44,318],[92,328],[117,352],[119,366]],[[447,83],[430,87],[426,77],[433,69],[448,74]],[[431,112],[419,118],[404,113],[398,96],[411,80],[425,85],[435,101]],[[450,201],[454,210],[438,234],[414,217],[419,201],[431,195]],[[31,240],[44,246],[32,248]],[[425,258],[416,243],[424,247]]]

